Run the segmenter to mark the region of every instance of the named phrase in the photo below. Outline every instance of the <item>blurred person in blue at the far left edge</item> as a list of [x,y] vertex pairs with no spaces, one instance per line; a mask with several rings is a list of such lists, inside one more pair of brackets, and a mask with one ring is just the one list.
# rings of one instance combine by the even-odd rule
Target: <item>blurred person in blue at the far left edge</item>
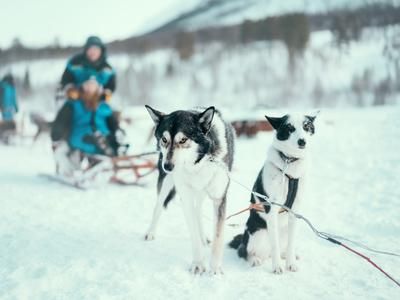
[[11,74],[4,76],[0,81],[0,111],[3,122],[14,123],[15,114],[18,112],[17,96],[14,78]]

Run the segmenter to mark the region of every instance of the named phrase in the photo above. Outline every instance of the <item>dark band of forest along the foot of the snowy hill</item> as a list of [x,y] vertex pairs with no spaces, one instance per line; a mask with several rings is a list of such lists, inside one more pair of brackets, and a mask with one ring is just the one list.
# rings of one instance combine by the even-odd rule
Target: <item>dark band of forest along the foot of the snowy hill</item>
[[[176,27],[164,28],[149,34],[108,44],[109,52],[143,54],[163,48],[175,48],[182,59],[188,59],[195,45],[222,42],[239,45],[254,41],[282,41],[294,57],[307,46],[311,32],[331,30],[339,44],[359,38],[365,27],[400,24],[400,7],[371,5],[355,10],[338,10],[306,15],[291,13],[267,17],[257,21],[246,20],[239,25],[209,27],[184,32]],[[21,43],[7,50],[0,49],[0,64],[18,60],[66,57],[78,51],[76,47],[44,47],[32,49]]]

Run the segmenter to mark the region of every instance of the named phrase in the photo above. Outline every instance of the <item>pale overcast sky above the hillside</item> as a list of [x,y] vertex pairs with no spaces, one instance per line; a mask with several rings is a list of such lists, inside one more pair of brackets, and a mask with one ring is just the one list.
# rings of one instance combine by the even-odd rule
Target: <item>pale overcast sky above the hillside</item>
[[29,46],[80,45],[88,35],[105,41],[151,29],[199,0],[0,0],[0,48],[15,37]]

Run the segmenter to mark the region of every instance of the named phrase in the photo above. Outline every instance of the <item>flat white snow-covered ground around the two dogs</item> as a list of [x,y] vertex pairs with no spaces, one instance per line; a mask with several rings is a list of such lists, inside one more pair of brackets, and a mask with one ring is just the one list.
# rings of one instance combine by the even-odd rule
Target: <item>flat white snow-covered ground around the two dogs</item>
[[[151,121],[129,128],[134,150]],[[233,112],[232,112],[233,113]],[[263,116],[265,111],[254,112]],[[276,112],[275,112],[276,113]],[[400,107],[323,110],[312,145],[308,197],[301,213],[321,230],[400,252]],[[225,111],[225,115],[231,112]],[[233,177],[251,186],[271,133],[237,141]],[[38,177],[52,172],[48,140],[0,146],[1,299],[397,299],[399,288],[340,247],[298,229],[299,271],[251,268],[225,250],[221,277],[188,272],[190,244],[179,201],[162,216],[152,242],[143,240],[155,203],[148,185],[106,185],[78,191]],[[228,214],[248,205],[232,184]],[[204,222],[211,230],[211,206]],[[243,230],[246,214],[228,221],[226,241]],[[367,253],[400,279],[400,259]]]

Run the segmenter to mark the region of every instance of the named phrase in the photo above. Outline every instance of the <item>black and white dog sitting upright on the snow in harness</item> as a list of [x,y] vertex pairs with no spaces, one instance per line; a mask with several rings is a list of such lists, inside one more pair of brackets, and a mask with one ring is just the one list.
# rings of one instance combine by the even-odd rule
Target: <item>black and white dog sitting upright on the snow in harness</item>
[[[295,211],[298,209],[304,194],[307,148],[315,132],[315,117],[298,114],[266,117],[275,129],[275,137],[254,183],[254,192]],[[250,201],[265,202],[254,194]],[[286,257],[286,269],[297,271],[295,217],[275,205],[261,207],[263,211],[250,210],[244,234],[237,235],[230,247],[237,249],[238,255],[252,266],[260,265],[271,256],[272,270],[280,274],[283,272],[281,257]]]

